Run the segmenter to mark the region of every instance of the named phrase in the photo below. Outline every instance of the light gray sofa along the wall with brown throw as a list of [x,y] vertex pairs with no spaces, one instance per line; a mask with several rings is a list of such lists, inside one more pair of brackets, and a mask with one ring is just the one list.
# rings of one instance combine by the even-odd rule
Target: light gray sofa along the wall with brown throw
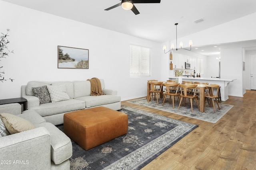
[[[121,98],[117,96],[117,91],[105,89],[104,80],[100,79],[100,82],[102,92],[106,95],[90,96],[90,81],[30,81],[27,85],[22,86],[22,97],[28,100],[28,110],[36,111],[47,122],[60,125],[63,123],[64,113],[70,111],[97,106],[104,106],[114,110],[120,109]],[[34,96],[32,88],[50,84],[54,86],[65,86],[70,100],[40,104],[39,98]]]

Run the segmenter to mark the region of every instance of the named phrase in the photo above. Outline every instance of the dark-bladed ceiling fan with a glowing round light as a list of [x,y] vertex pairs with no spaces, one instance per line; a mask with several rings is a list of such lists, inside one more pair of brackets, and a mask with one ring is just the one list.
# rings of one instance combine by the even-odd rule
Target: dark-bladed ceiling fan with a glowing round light
[[110,8],[105,9],[106,11],[116,8],[118,6],[122,6],[124,10],[132,10],[132,12],[137,15],[140,12],[134,6],[134,4],[141,4],[141,3],[160,3],[161,0],[121,0],[119,4],[111,6]]

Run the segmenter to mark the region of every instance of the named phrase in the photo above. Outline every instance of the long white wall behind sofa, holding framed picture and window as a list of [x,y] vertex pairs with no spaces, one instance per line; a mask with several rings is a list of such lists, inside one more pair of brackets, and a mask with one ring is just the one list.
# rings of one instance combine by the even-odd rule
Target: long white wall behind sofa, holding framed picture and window
[[[0,61],[5,78],[0,82],[0,99],[20,97],[20,88],[30,80],[105,80],[106,88],[118,90],[121,100],[146,96],[148,79],[160,79],[161,45],[107,29],[60,18],[0,1],[0,32],[8,37],[14,54]],[[129,77],[129,45],[152,49],[152,77]],[[89,69],[57,68],[57,46],[89,49]]]

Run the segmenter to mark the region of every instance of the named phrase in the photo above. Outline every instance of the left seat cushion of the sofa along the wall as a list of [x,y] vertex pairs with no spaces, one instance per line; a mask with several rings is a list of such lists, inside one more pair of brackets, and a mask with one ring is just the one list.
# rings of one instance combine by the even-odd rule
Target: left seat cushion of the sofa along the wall
[[29,109],[35,110],[41,116],[49,116],[84,108],[84,101],[71,99],[55,103],[40,104],[40,106],[30,107]]

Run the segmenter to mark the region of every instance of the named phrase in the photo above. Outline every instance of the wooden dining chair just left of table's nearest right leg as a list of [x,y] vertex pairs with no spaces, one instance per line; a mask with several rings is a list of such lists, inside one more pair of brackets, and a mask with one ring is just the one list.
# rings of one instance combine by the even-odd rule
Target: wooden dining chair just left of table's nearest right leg
[[[191,112],[193,112],[192,99],[196,99],[196,104],[197,104],[198,109],[199,109],[199,104],[198,104],[198,101],[197,101],[198,100],[198,95],[196,95],[196,93],[195,93],[196,86],[197,86],[197,84],[180,84],[180,88],[181,88],[180,104],[181,104],[183,98],[184,98],[184,106],[185,106],[186,98],[190,99]],[[187,93],[188,90],[193,90],[194,93]],[[180,104],[179,104],[178,109],[180,109]]]

